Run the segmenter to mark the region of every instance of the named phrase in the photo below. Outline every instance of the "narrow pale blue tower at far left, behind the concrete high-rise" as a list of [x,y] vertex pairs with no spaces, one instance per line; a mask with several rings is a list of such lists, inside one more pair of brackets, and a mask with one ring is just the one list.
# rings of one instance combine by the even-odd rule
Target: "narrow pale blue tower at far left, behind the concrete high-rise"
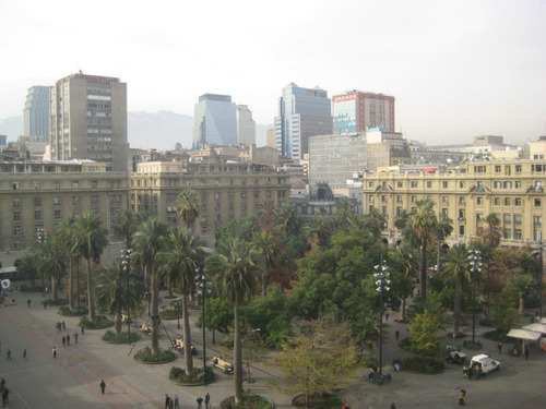
[[35,85],[28,88],[23,118],[25,136],[49,141],[49,86]]

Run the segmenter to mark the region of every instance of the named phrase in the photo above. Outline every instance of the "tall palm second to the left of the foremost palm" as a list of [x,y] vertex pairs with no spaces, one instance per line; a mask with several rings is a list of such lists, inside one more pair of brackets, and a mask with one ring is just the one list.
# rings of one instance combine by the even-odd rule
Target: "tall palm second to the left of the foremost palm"
[[152,353],[159,353],[159,294],[156,272],[156,255],[163,246],[167,234],[167,225],[161,222],[156,217],[147,219],[139,227],[134,234],[135,255],[141,260],[142,265],[150,273],[152,278],[152,304],[151,304],[151,327],[152,327]]

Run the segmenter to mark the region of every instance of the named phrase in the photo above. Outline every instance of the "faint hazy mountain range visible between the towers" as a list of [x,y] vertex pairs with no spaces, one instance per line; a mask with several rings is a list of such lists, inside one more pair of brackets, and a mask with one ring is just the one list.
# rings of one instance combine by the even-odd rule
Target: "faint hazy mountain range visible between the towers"
[[[174,149],[177,143],[190,148],[193,143],[193,117],[173,111],[128,112],[128,134],[131,147]],[[265,134],[272,124],[256,125],[256,144],[265,146]],[[0,134],[16,141],[23,134],[23,117],[0,120]]]

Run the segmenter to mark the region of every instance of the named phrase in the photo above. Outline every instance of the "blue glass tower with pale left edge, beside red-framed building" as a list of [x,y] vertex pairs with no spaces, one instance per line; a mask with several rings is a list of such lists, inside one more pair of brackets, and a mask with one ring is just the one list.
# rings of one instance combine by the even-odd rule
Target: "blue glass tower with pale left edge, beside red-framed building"
[[301,159],[309,153],[309,136],[332,133],[331,103],[319,87],[300,88],[294,83],[283,88],[275,117],[275,147],[281,156]]

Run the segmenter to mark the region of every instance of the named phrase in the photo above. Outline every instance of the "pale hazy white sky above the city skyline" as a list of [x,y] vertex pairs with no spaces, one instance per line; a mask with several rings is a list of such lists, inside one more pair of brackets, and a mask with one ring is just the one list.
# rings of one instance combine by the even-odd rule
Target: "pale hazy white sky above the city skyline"
[[272,123],[294,82],[393,95],[410,140],[546,134],[543,0],[0,0],[0,119],[82,70],[126,82],[129,111],[216,93]]

